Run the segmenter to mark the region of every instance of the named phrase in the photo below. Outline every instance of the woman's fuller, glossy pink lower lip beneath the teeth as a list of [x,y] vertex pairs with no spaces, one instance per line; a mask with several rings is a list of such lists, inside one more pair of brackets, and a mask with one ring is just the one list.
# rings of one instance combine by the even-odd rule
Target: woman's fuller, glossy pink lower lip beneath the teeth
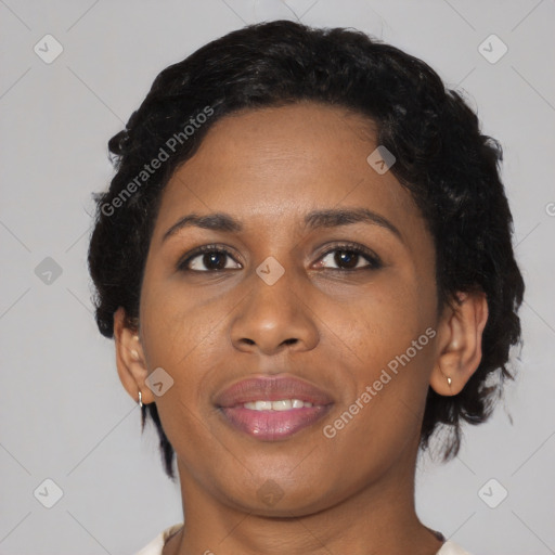
[[235,428],[262,441],[278,441],[315,424],[330,412],[331,406],[305,406],[291,411],[253,411],[244,406],[222,406],[220,410]]

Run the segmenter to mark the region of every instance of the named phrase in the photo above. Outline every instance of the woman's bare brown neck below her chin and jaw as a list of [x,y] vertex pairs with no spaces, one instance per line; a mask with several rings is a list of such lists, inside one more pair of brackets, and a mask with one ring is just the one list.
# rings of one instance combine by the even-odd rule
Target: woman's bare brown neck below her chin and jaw
[[417,518],[414,468],[391,468],[375,483],[337,504],[307,515],[261,516],[210,495],[178,462],[184,527],[164,555],[435,555],[441,542]]

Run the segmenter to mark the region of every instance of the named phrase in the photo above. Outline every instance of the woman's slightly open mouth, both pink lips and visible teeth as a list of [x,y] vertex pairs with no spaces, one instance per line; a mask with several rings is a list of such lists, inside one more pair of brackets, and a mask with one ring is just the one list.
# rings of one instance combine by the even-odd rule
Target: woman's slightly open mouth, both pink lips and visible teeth
[[215,404],[235,430],[279,441],[325,417],[334,401],[320,388],[282,375],[238,382],[217,396]]

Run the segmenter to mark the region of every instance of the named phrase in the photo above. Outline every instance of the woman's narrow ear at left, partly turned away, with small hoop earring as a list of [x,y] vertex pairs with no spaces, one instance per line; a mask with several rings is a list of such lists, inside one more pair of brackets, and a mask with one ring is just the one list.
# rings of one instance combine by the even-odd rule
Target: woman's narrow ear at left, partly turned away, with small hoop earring
[[119,307],[114,313],[117,373],[131,398],[139,402],[141,391],[143,404],[149,404],[154,401],[154,393],[145,384],[149,372],[143,348],[138,331],[129,327],[126,320],[125,309]]

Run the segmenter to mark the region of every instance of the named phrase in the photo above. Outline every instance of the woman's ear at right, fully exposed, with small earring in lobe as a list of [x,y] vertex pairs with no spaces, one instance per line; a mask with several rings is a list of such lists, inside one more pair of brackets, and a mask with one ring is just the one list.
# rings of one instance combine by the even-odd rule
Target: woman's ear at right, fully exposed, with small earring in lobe
[[481,336],[488,321],[482,292],[459,293],[457,307],[447,307],[438,330],[438,357],[430,386],[439,395],[462,391],[481,361]]

